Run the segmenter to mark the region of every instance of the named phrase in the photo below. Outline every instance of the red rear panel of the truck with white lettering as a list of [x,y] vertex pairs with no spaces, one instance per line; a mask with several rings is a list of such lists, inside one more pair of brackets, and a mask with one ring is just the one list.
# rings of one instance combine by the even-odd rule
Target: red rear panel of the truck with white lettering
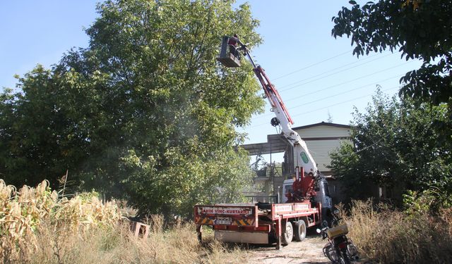
[[197,225],[237,225],[258,227],[257,206],[195,206]]

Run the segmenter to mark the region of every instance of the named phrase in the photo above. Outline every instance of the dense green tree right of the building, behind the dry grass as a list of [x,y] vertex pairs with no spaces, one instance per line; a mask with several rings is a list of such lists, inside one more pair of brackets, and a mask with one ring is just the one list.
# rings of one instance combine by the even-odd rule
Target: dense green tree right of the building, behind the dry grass
[[[362,184],[423,191],[434,187],[450,195],[452,144],[438,140],[436,120],[446,120],[444,104],[388,99],[377,93],[366,113],[355,112],[350,134],[354,146],[344,144],[331,154],[331,169],[342,176],[350,194],[368,194]],[[398,197],[401,199],[401,197]]]

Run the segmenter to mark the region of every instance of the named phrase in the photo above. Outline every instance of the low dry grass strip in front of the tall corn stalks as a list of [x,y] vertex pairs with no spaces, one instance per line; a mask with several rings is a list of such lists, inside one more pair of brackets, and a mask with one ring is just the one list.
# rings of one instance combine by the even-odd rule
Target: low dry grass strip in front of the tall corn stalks
[[133,237],[126,223],[64,239],[43,233],[40,239],[40,249],[29,263],[243,263],[246,257],[244,251],[213,240],[201,246],[191,225],[151,233],[148,239]]

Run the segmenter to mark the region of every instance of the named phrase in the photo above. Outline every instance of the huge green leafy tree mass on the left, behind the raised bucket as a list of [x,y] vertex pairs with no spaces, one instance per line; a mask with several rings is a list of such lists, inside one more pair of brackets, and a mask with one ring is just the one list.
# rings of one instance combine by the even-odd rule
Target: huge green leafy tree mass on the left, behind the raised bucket
[[215,61],[225,34],[261,42],[249,6],[233,2],[99,4],[88,48],[2,94],[2,177],[55,183],[69,168],[81,187],[126,196],[141,213],[234,200],[251,177],[235,128],[263,100],[251,65]]

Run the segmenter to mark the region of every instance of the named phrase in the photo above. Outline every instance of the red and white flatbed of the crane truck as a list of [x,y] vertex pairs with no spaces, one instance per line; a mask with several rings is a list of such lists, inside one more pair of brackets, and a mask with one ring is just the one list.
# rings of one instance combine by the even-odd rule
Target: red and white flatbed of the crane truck
[[[312,207],[309,201],[299,203],[227,203],[198,205],[194,208],[195,223],[198,225],[198,238],[202,239],[202,226],[215,230],[215,238],[222,241],[246,243],[268,243],[269,235],[277,241],[280,248],[281,232],[287,222],[305,227],[318,225],[321,204]],[[304,230],[305,232],[306,230]],[[292,232],[293,233],[293,232]]]

